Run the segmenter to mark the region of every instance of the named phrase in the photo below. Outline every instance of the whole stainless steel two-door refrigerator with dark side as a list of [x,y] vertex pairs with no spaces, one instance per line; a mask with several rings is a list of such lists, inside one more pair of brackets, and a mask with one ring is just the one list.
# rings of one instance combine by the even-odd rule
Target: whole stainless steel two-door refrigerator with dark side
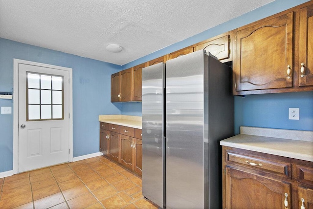
[[203,50],[142,69],[142,195],[159,207],[222,207],[231,72]]

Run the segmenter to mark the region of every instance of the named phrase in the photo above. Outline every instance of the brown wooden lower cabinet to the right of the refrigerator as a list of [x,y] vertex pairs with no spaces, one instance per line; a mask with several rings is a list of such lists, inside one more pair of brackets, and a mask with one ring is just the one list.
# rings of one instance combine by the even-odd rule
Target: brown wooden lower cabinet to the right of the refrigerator
[[313,209],[313,162],[222,150],[223,209]]

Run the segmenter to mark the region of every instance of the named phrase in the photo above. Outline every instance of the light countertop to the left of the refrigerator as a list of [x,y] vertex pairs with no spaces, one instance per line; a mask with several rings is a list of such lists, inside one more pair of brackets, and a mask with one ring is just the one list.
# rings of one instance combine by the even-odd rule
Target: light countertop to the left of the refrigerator
[[141,117],[130,115],[99,115],[99,122],[141,129]]

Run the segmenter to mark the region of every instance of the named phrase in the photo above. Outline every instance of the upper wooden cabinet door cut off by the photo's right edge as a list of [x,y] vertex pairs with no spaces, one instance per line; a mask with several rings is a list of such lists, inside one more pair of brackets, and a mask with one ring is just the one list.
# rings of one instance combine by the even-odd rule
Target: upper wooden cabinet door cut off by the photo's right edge
[[299,35],[299,86],[313,85],[313,5],[300,9]]

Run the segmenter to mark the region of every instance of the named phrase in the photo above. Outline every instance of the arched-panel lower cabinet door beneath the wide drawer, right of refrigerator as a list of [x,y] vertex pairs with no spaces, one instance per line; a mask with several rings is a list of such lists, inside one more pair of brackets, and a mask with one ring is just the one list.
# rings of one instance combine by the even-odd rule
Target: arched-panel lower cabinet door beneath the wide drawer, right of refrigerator
[[285,209],[285,194],[291,208],[291,184],[226,167],[228,209]]

